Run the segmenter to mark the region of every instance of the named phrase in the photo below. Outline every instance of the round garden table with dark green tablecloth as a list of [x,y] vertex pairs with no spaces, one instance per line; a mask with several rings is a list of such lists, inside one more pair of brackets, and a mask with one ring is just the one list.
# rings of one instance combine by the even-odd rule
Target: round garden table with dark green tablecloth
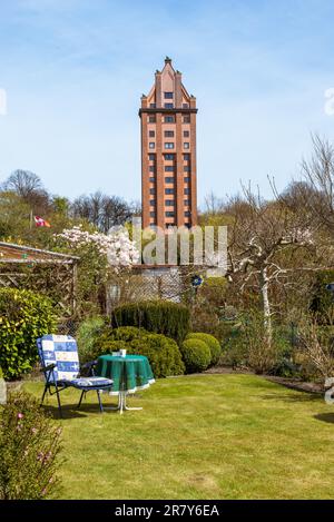
[[114,381],[110,395],[118,396],[118,406],[111,410],[143,410],[128,407],[126,396],[138,390],[145,390],[155,382],[148,358],[144,355],[101,355],[98,357],[96,375]]

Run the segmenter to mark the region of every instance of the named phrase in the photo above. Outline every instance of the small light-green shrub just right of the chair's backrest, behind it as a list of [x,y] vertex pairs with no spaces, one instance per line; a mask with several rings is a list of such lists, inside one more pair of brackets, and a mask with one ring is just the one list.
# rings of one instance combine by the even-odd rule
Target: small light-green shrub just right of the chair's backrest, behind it
[[106,319],[101,316],[89,317],[80,324],[77,332],[77,342],[81,363],[94,361],[95,345],[105,326]]

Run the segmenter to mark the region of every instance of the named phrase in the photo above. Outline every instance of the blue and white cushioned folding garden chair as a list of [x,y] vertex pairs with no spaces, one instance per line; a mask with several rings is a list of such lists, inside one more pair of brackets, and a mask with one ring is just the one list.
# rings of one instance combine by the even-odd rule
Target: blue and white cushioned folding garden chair
[[[112,381],[105,377],[96,377],[94,366],[96,361],[79,366],[78,346],[73,337],[69,335],[43,335],[37,339],[38,354],[46,377],[45,391],[41,398],[41,405],[47,392],[50,395],[57,395],[59,414],[62,416],[59,393],[69,386],[81,391],[78,407],[81,405],[84,395],[87,392],[96,391],[100,412],[104,411],[100,398],[100,391],[110,390]],[[80,370],[87,368],[89,376],[81,377]],[[52,388],[55,388],[52,391]]]

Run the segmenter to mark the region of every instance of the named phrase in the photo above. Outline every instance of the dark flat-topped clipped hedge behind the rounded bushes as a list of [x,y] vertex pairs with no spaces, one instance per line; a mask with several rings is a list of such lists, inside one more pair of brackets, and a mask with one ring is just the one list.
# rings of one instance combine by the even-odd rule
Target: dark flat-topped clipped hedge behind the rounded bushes
[[177,303],[144,301],[115,308],[111,324],[114,327],[143,327],[181,343],[190,329],[190,314],[186,306]]

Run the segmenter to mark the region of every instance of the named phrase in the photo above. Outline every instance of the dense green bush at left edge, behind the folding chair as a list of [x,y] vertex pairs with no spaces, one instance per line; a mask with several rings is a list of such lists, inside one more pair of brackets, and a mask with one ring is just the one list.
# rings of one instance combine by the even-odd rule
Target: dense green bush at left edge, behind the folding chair
[[17,378],[38,361],[36,339],[56,328],[52,302],[30,290],[0,289],[0,366]]

